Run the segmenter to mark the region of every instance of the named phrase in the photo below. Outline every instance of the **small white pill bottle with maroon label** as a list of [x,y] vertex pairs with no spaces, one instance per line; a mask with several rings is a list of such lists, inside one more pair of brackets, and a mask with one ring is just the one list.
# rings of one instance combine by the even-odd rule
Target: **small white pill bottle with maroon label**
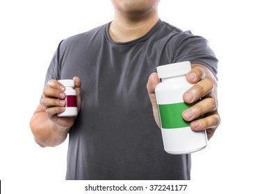
[[76,90],[74,89],[74,80],[58,80],[65,87],[66,105],[65,111],[58,116],[76,116],[77,115],[77,100]]

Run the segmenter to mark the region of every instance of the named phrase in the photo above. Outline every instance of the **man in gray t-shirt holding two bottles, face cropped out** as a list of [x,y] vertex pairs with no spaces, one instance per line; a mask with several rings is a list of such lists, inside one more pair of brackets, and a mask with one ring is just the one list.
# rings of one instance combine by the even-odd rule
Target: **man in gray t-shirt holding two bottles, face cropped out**
[[[220,123],[217,59],[206,39],[161,21],[158,0],[111,1],[112,22],[60,42],[31,119],[35,141],[56,146],[69,134],[66,179],[190,179],[190,155],[163,150],[154,72],[190,60],[186,78],[195,86],[183,99],[202,100],[183,118],[210,139]],[[67,78],[75,82],[79,115],[61,118],[65,94],[57,80]]]

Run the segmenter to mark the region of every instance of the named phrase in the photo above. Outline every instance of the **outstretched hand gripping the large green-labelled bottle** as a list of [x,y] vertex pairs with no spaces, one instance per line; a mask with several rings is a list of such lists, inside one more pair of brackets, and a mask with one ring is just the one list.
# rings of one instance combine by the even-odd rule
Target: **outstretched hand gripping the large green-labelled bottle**
[[[199,100],[199,98],[202,98],[202,100],[184,111],[183,118],[186,121],[191,121],[190,127],[192,130],[206,130],[208,139],[211,139],[216,128],[220,124],[220,116],[217,112],[217,81],[211,70],[204,65],[191,64],[191,66],[192,69],[187,73],[186,80],[195,85],[183,94],[183,100],[186,103],[194,103]],[[154,89],[158,82],[157,73],[151,73],[147,83],[147,90],[154,111],[154,119],[157,125],[160,126],[154,93]],[[204,114],[204,118],[195,120],[202,114]]]

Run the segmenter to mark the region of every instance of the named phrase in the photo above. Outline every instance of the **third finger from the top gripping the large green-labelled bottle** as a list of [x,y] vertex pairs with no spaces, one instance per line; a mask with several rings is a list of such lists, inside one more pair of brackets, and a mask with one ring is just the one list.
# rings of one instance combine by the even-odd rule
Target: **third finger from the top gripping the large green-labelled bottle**
[[199,103],[193,105],[192,107],[186,109],[182,116],[186,121],[192,121],[203,114],[208,112],[214,112],[217,109],[217,102],[213,98],[204,98],[204,100],[199,101]]

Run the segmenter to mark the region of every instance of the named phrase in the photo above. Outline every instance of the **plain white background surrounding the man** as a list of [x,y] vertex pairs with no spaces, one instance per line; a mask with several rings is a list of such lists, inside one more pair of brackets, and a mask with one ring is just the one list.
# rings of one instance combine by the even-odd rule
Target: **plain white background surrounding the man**
[[[220,60],[222,122],[207,148],[192,154],[190,193],[270,192],[270,3],[161,0],[159,15],[182,30],[206,37]],[[109,0],[1,1],[0,179],[4,193],[37,189],[38,193],[85,193],[86,182],[63,182],[67,141],[56,148],[40,148],[28,123],[58,43],[112,19]]]

